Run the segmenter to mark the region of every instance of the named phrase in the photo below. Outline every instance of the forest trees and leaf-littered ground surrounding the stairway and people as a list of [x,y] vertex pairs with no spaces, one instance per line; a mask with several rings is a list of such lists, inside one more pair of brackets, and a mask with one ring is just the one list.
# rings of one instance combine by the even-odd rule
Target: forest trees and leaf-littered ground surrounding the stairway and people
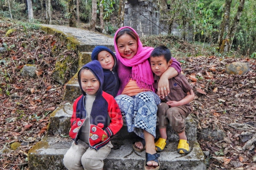
[[[171,36],[169,27],[169,35],[141,40],[147,46],[168,46],[192,82],[196,94],[192,105],[195,117],[199,117],[198,141],[207,168],[256,169],[256,1],[152,1],[159,5],[160,13],[167,9],[170,26],[177,23],[182,36]],[[123,24],[124,3],[0,0],[0,48],[7,50],[0,54],[0,149],[22,141],[17,150],[0,155],[1,169],[28,169],[29,149],[46,134],[49,115],[62,102],[64,85],[52,79],[55,62],[59,55],[77,57],[75,51],[54,35],[44,33],[38,24],[69,25],[113,36]],[[187,26],[193,32],[191,42],[185,41]],[[16,31],[9,32],[13,29]],[[225,66],[233,62],[246,62],[251,71],[245,75],[226,74]],[[25,64],[37,64],[37,78],[20,74]],[[74,74],[66,72],[66,80]],[[235,127],[238,124],[234,122],[252,129]],[[223,130],[226,137],[203,139],[208,128]],[[252,134],[243,136],[244,131]],[[245,145],[249,139],[254,141]]]

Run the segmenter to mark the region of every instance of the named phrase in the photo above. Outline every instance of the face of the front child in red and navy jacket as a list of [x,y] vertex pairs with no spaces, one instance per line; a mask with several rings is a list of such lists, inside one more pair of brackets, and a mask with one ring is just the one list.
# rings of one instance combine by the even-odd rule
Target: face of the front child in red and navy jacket
[[100,88],[100,82],[90,70],[85,69],[81,73],[81,86],[87,94],[94,95]]

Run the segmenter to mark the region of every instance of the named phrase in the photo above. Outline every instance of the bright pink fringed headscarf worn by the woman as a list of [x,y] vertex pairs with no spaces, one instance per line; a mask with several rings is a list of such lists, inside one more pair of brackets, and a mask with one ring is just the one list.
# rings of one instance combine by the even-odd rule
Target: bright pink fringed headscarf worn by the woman
[[125,66],[132,67],[132,80],[136,80],[137,85],[141,89],[151,89],[154,91],[154,78],[150,63],[148,61],[148,58],[150,57],[150,54],[154,50],[154,48],[143,47],[142,42],[140,41],[139,36],[136,33],[138,38],[138,51],[136,55],[130,60],[128,60],[127,58],[123,58],[118,51],[116,35],[120,30],[124,28],[129,28],[134,33],[136,33],[136,31],[131,27],[121,27],[116,31],[114,35],[114,48],[116,50],[116,56],[118,60]]

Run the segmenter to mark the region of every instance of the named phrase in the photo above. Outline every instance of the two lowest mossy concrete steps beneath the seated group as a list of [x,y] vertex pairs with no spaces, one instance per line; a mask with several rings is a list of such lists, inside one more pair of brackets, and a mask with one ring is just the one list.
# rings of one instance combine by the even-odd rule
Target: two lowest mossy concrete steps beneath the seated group
[[[66,137],[70,129],[70,117],[73,106],[65,103],[59,106],[51,115],[46,137],[38,142],[29,152],[30,170],[64,170],[63,157],[71,146],[72,140]],[[177,153],[178,135],[172,129],[167,129],[170,144],[160,153],[161,170],[206,169],[204,154],[196,140],[196,122],[191,116],[186,119],[186,134],[190,138],[191,152],[188,154]],[[63,137],[60,137],[63,136]],[[131,170],[144,169],[145,151],[133,151],[132,143],[138,141],[137,135],[128,133],[127,127],[122,129],[112,138],[114,148],[105,160],[105,170]]]

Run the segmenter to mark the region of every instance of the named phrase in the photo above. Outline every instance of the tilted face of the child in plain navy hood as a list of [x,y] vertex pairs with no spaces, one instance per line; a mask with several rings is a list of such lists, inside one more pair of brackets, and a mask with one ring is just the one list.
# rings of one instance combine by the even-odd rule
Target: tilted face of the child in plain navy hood
[[97,60],[101,63],[101,67],[112,71],[114,67],[114,58],[111,53],[107,51],[101,51],[98,53]]

